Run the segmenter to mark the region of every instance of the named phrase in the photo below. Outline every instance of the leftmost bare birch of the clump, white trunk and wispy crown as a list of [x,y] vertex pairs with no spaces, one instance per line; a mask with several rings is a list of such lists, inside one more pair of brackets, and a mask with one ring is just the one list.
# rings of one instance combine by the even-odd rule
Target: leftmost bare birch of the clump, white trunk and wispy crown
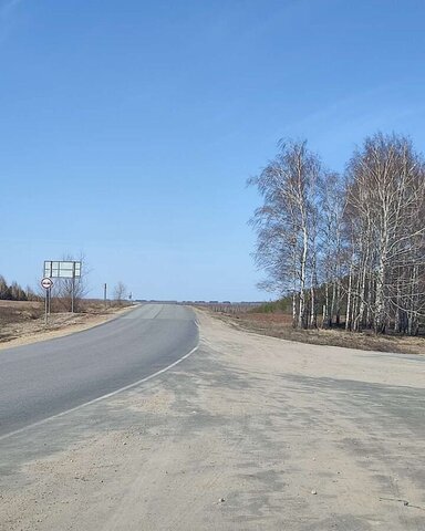
[[315,322],[319,176],[319,158],[307,148],[307,142],[289,140],[281,142],[276,159],[249,180],[265,201],[251,219],[258,236],[256,261],[268,273],[269,284],[280,293],[292,294],[297,326]]

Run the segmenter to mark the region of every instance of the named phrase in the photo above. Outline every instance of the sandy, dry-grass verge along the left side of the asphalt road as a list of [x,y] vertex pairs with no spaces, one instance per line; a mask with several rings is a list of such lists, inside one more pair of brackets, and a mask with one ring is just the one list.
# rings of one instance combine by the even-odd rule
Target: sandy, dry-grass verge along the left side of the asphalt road
[[0,350],[80,332],[131,308],[105,308],[103,303],[87,301],[80,313],[52,313],[45,324],[42,302],[0,301]]

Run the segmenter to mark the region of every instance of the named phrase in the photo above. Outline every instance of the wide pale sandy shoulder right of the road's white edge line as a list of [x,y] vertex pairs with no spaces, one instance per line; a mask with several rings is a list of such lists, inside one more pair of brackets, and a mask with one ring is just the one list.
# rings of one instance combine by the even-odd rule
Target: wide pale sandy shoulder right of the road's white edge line
[[422,357],[198,320],[172,371],[0,441],[0,529],[424,529]]

